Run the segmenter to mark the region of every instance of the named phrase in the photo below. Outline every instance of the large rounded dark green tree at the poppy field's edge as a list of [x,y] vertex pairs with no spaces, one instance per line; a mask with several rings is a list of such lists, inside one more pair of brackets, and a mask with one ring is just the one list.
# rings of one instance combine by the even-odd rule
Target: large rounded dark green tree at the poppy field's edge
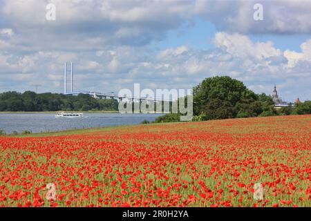
[[194,115],[205,113],[209,119],[255,117],[264,111],[263,103],[268,106],[270,98],[228,76],[209,77],[194,87]]

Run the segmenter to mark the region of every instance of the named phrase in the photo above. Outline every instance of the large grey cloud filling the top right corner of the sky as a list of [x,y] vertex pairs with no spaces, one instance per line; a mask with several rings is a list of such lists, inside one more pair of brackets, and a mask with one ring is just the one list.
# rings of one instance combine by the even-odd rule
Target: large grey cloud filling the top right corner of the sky
[[[263,21],[255,21],[255,3],[263,5]],[[196,1],[196,12],[218,30],[243,34],[311,33],[311,1]]]

